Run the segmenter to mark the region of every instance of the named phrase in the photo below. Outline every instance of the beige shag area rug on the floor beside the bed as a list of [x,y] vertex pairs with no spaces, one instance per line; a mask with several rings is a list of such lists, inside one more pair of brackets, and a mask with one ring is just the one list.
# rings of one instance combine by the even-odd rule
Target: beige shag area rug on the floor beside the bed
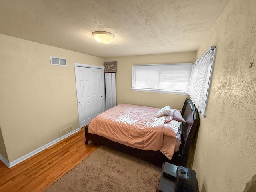
[[156,192],[161,168],[100,146],[45,192]]

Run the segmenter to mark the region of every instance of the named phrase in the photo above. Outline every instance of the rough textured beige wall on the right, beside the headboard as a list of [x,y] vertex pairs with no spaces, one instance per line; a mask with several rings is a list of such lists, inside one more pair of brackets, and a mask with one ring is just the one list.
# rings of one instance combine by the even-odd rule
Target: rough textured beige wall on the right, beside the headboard
[[241,192],[256,173],[255,10],[255,0],[231,0],[197,53],[217,47],[193,165],[201,192]]

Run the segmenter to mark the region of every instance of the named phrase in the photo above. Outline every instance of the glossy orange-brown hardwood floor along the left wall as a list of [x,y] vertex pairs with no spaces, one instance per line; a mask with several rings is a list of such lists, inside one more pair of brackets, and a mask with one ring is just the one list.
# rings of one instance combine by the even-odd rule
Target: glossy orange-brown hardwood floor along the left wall
[[12,168],[0,161],[0,192],[40,192],[98,146],[84,144],[84,128]]

